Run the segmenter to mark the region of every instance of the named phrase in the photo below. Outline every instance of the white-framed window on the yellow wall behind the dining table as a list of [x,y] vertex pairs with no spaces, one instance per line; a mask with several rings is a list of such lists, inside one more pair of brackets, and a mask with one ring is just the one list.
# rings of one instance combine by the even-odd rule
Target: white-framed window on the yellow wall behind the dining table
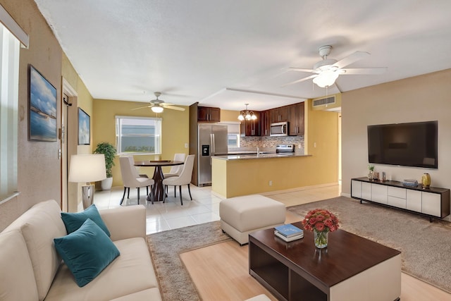
[[118,154],[161,154],[161,118],[116,116]]

